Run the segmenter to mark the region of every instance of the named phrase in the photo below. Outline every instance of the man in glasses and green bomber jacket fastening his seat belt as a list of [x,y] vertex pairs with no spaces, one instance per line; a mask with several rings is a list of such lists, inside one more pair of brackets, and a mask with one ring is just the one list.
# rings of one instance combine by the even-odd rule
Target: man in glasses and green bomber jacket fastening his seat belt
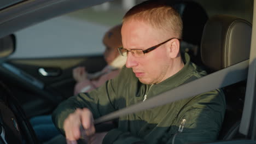
[[217,139],[225,98],[216,89],[154,109],[119,118],[118,128],[96,133],[93,119],[140,103],[206,75],[179,51],[182,20],[168,5],[147,1],[130,9],[121,29],[127,56],[119,76],[89,93],[63,101],[53,113],[66,139],[81,136],[82,124],[92,143],[193,143]]

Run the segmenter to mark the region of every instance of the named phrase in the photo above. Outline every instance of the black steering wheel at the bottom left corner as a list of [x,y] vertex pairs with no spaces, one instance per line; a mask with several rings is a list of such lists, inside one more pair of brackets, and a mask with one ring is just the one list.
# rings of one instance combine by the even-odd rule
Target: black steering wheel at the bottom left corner
[[18,100],[1,81],[0,133],[0,143],[40,143]]

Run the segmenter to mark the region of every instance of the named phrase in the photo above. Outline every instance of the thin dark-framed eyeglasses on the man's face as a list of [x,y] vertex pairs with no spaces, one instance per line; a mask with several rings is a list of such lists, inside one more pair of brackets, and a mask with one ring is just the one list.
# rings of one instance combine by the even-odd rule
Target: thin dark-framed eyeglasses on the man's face
[[[127,50],[127,49],[124,49],[123,47],[118,47],[118,52],[120,53],[121,56],[124,56],[124,57],[127,57],[128,55],[128,52],[130,51],[132,53],[132,56],[134,57],[144,57],[145,56],[145,53],[148,53],[150,51],[153,51],[155,50],[156,48],[158,48],[159,46],[167,43],[168,41],[172,40],[172,39],[178,39],[178,38],[171,38],[171,39],[168,39],[158,45],[155,45],[155,46],[152,46],[152,47],[149,47],[148,49],[146,50],[142,50],[142,49],[131,49],[131,50]],[[180,39],[178,39],[180,40]]]

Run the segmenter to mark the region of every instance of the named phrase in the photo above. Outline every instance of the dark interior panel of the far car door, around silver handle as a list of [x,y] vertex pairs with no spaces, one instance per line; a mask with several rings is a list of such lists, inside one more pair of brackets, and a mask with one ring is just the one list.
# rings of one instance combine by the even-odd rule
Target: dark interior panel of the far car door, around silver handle
[[[103,56],[66,57],[66,58],[36,58],[9,59],[5,64],[18,70],[15,73],[1,67],[5,82],[15,92],[28,116],[50,113],[60,101],[73,95],[75,81],[72,76],[73,68],[85,66],[88,73],[94,73],[106,66]],[[58,71],[56,76],[43,76],[38,69]],[[5,71],[5,72],[4,72]],[[25,77],[25,78],[24,78]],[[18,79],[17,79],[18,78]],[[33,85],[31,81],[42,83],[42,87]]]

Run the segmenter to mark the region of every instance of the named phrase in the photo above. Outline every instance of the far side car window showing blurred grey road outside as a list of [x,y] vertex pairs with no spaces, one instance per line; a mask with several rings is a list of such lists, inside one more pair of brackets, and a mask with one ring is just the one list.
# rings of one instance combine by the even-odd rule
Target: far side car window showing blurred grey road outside
[[119,5],[107,2],[22,29],[15,33],[17,49],[10,58],[102,55],[102,35],[131,7]]

